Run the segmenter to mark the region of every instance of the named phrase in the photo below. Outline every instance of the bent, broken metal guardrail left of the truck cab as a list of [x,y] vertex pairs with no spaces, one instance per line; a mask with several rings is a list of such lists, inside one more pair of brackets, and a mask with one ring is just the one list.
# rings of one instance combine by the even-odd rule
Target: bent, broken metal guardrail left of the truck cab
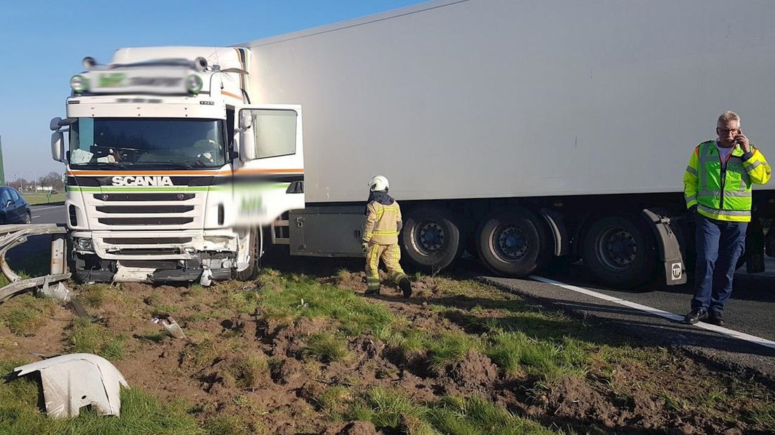
[[[9,280],[9,284],[0,289],[0,303],[29,289],[48,286],[70,278],[67,271],[67,255],[65,254],[65,234],[67,228],[57,224],[12,224],[0,225],[0,270]],[[11,248],[22,245],[29,236],[51,235],[50,272],[46,276],[22,279],[5,260],[5,255]]]

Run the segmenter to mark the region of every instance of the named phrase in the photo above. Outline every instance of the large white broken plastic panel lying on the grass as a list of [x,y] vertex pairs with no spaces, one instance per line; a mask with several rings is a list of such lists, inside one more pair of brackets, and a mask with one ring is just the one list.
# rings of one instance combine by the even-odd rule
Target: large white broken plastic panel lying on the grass
[[101,416],[118,416],[121,385],[129,384],[108,360],[92,354],[61,355],[14,369],[18,376],[40,372],[46,413],[53,419],[75,417],[84,406]]

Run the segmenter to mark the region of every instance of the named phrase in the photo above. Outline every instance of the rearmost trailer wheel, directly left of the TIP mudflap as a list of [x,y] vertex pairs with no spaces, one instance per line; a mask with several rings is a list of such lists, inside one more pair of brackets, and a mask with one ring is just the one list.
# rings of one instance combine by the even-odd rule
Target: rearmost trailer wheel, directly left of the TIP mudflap
[[584,237],[582,258],[603,284],[632,289],[651,278],[656,243],[645,222],[621,216],[594,222]]

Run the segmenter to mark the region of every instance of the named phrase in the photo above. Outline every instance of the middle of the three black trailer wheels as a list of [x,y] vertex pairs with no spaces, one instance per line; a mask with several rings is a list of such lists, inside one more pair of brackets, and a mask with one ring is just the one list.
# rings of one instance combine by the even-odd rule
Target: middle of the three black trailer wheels
[[500,275],[528,276],[546,266],[552,256],[554,241],[548,229],[524,208],[491,214],[477,235],[479,259]]

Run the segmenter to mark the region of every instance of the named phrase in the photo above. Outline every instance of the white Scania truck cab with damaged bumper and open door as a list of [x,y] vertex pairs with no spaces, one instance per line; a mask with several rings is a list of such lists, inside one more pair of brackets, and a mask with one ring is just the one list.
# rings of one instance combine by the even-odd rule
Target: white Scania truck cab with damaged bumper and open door
[[84,58],[67,118],[50,125],[76,279],[255,274],[262,232],[251,228],[304,207],[303,146],[298,105],[250,104],[249,63],[249,50],[212,47]]

